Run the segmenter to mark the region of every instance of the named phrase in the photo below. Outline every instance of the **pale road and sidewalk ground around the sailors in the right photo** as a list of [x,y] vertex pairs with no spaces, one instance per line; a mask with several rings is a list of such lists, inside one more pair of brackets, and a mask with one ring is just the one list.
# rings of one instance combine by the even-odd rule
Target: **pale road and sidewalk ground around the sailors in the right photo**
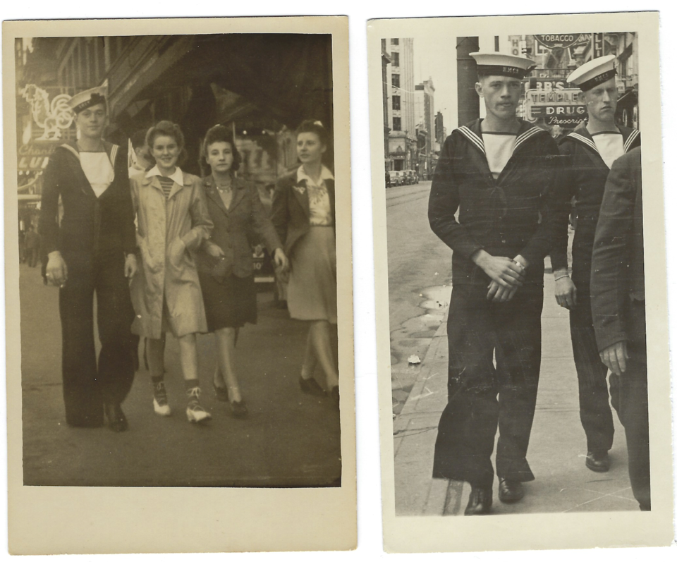
[[[446,405],[451,250],[430,231],[429,187],[427,182],[386,191],[396,513],[463,515],[470,486],[432,479],[437,423]],[[527,456],[536,480],[525,484],[523,501],[506,504],[498,501],[496,479],[493,513],[636,510],[616,413],[611,470],[585,468],[568,312],[555,302],[549,260],[546,271],[542,367]],[[409,365],[410,355],[420,364]]]

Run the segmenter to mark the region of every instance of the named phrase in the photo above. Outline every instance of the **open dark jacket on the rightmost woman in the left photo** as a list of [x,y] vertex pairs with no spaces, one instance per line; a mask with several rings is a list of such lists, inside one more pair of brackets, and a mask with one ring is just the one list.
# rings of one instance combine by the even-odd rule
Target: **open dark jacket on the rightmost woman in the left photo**
[[[297,181],[296,171],[281,178],[275,186],[271,219],[284,243],[284,253],[291,257],[295,243],[310,231],[310,202],[306,181]],[[324,180],[331,204],[331,224],[336,231],[336,188],[334,180]]]

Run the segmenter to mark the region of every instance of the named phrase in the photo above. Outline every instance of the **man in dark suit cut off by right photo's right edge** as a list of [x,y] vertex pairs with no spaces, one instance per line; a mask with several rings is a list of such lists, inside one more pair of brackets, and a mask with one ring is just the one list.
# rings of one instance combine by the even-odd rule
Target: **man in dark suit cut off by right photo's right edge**
[[642,152],[611,166],[592,249],[590,294],[599,358],[609,368],[611,404],[626,430],[630,485],[651,511]]

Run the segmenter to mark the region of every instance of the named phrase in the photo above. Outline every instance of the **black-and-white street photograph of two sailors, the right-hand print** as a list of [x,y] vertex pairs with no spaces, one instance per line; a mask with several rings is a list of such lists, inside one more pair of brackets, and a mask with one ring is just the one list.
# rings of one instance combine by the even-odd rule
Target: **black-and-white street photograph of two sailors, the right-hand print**
[[395,21],[370,59],[394,516],[652,511],[645,34]]

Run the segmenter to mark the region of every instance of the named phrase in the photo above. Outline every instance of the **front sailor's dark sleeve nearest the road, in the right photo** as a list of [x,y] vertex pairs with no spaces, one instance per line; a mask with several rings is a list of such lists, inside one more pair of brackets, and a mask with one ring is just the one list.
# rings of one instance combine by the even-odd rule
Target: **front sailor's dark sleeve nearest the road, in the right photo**
[[453,133],[444,142],[432,178],[428,200],[428,221],[432,231],[455,253],[467,257],[482,249],[482,244],[472,238],[468,230],[456,221],[460,204],[458,185],[454,181],[454,168],[459,165],[455,155]]

